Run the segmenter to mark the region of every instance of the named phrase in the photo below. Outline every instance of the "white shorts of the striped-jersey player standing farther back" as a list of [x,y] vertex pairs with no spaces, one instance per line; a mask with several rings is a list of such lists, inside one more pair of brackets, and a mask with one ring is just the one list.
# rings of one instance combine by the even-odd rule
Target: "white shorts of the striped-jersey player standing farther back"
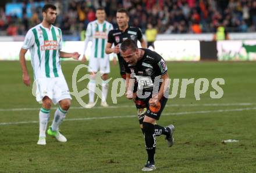
[[95,58],[92,57],[89,59],[89,69],[88,72],[100,72],[101,74],[109,73],[109,57],[104,58]]

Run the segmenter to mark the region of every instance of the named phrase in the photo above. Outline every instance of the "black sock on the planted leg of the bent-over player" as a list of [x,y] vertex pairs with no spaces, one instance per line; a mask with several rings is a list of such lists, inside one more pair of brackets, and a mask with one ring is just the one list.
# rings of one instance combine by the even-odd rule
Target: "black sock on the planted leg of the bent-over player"
[[148,161],[150,161],[150,163],[155,163],[155,126],[154,124],[143,122],[143,129],[145,133],[145,145],[148,153]]

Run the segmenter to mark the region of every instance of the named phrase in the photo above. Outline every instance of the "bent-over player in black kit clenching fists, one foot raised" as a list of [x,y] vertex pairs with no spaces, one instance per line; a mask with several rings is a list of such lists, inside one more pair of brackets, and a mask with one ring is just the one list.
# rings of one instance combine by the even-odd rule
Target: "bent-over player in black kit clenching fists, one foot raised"
[[[137,44],[127,39],[120,46],[120,53],[127,62],[126,68],[126,97],[136,102],[140,128],[145,136],[145,147],[148,160],[142,171],[155,170],[156,136],[165,135],[168,146],[172,146],[175,127],[170,124],[162,127],[157,124],[168,98],[163,97],[167,66],[163,58],[149,49],[138,49]],[[131,78],[138,82],[137,93],[133,93]],[[157,79],[159,79],[157,81]],[[162,81],[161,81],[162,80]],[[166,83],[167,84],[167,83]]]

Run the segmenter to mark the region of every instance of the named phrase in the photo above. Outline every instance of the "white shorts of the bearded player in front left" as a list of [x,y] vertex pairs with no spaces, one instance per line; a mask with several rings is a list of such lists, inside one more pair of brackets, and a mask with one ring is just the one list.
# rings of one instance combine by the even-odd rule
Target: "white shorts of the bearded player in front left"
[[58,78],[38,78],[35,83],[37,86],[35,97],[40,103],[45,96],[51,98],[55,105],[65,98],[72,100],[63,76]]

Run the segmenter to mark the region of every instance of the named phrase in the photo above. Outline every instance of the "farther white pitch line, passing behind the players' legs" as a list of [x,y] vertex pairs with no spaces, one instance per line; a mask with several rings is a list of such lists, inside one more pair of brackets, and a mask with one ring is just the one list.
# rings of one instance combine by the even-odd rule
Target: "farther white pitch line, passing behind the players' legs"
[[[227,104],[167,104],[166,107],[196,107],[196,106],[252,106],[256,103],[227,103]],[[91,109],[117,109],[117,108],[130,108],[131,105],[119,105],[119,106],[109,106],[107,108],[101,106],[95,106]],[[52,109],[55,109],[53,107]],[[135,106],[134,106],[135,108]],[[82,106],[74,106],[70,109],[86,109]],[[12,112],[12,111],[39,111],[40,108],[10,108],[10,109],[0,109],[0,112]]]

